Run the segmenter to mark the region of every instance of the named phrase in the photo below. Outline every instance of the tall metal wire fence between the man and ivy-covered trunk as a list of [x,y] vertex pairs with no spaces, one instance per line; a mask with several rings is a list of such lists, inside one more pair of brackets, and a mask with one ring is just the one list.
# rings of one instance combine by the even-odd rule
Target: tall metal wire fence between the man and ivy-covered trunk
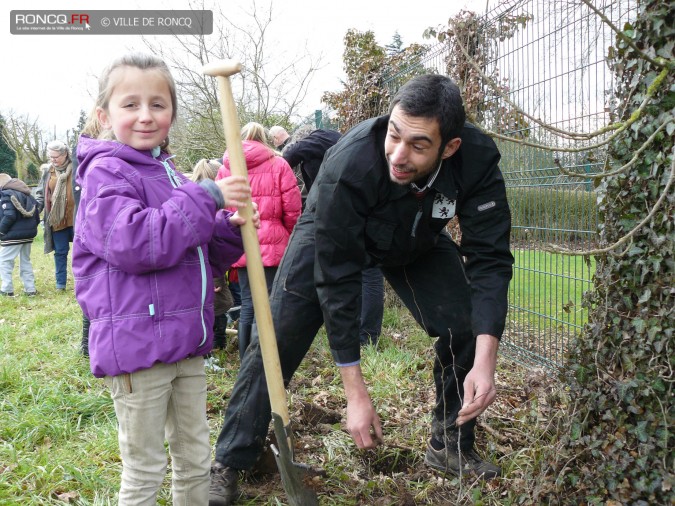
[[[600,0],[595,6],[619,27],[636,14],[635,0]],[[509,22],[514,19],[525,22],[515,26]],[[486,99],[480,120],[516,140],[497,141],[513,213],[516,259],[502,342],[521,362],[557,369],[570,338],[587,322],[584,292],[592,289],[595,266],[592,259],[548,253],[543,246],[583,250],[596,244],[598,206],[591,176],[602,169],[605,153],[590,146],[597,139],[579,152],[524,145],[522,141],[554,149],[584,147],[523,113],[576,133],[609,123],[613,79],[606,55],[615,33],[578,0],[502,1],[480,18],[479,26],[474,42],[483,45],[481,54],[486,55],[481,62]],[[456,62],[452,47],[441,43],[415,66],[447,73]],[[399,80],[394,76],[391,82]],[[564,175],[559,166],[588,176]]]

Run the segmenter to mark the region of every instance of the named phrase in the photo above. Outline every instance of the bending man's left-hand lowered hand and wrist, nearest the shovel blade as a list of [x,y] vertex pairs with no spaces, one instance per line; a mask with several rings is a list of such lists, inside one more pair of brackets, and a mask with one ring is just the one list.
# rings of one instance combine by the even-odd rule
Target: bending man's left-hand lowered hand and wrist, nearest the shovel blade
[[375,448],[382,442],[382,425],[370,401],[361,366],[340,367],[340,374],[347,396],[347,430],[357,447]]

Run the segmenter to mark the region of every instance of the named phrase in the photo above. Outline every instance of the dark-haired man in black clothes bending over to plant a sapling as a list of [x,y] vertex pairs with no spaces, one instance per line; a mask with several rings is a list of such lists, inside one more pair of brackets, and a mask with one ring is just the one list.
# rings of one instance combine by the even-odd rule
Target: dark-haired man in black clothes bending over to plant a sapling
[[[357,299],[362,269],[379,266],[417,322],[438,336],[425,462],[492,478],[501,471],[475,453],[473,429],[496,395],[511,219],[499,151],[464,117],[457,86],[424,75],[399,90],[388,116],[345,134],[326,153],[270,302],[285,381],[325,323],[345,388],[347,429],[359,448],[373,448],[382,427],[361,374]],[[455,214],[461,248],[445,231]],[[231,503],[236,471],[256,462],[269,420],[254,332],[216,444],[211,506]]]

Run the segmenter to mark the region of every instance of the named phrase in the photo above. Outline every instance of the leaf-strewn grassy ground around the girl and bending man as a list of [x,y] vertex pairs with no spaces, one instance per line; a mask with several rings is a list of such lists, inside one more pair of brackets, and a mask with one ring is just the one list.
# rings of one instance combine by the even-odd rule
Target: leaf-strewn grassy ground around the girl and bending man
[[[72,292],[54,288],[52,255],[33,246],[39,296],[0,298],[0,504],[116,504],[121,462],[112,401],[79,353],[81,313]],[[21,292],[15,270],[15,293]],[[431,340],[396,304],[385,311],[378,348],[363,369],[384,428],[384,444],[359,451],[344,430],[344,393],[320,335],[290,389],[299,460],[321,467],[313,480],[322,505],[537,504],[554,486],[564,388],[542,371],[502,358],[498,400],[481,417],[479,453],[505,470],[488,483],[444,478],[423,464],[434,403]],[[234,383],[235,346],[209,372],[212,442]],[[308,410],[325,418],[309,422]],[[284,504],[277,475],[246,476],[238,504]],[[564,502],[564,501],[563,501]],[[159,504],[171,504],[170,477]]]

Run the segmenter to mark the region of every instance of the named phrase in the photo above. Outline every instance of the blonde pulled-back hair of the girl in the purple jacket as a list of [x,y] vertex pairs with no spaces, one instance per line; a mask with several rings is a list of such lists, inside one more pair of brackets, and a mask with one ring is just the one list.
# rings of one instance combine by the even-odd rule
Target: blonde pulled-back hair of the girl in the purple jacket
[[[112,96],[113,89],[117,84],[116,81],[110,79],[111,74],[118,68],[122,67],[133,67],[140,70],[156,70],[162,77],[166,80],[167,85],[169,86],[169,93],[171,94],[171,122],[173,123],[176,120],[176,114],[178,112],[178,100],[176,97],[176,83],[173,80],[171,71],[169,67],[164,63],[160,58],[157,58],[151,54],[145,53],[128,53],[112,61],[108,65],[101,77],[98,80],[98,96],[96,97],[96,103],[89,113],[89,119],[82,129],[82,133],[94,139],[115,139],[114,134],[111,130],[105,130],[101,127],[101,124],[98,121],[96,115],[96,109],[100,107],[103,110],[108,110],[110,105],[110,97]],[[167,138],[162,144],[161,148],[166,150],[169,146],[169,139]]]

